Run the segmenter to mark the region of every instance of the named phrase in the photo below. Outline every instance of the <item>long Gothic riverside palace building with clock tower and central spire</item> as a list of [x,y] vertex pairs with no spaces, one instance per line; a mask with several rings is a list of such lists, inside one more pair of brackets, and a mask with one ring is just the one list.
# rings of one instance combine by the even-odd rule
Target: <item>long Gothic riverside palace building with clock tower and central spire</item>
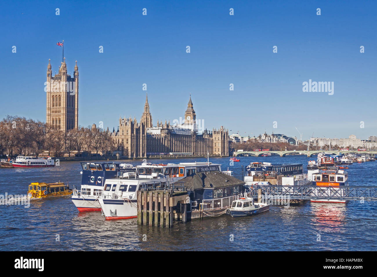
[[193,155],[229,156],[228,130],[221,127],[212,132],[196,132],[196,115],[191,96],[185,112],[185,124],[172,126],[170,121],[157,122],[153,127],[148,96],[140,123],[136,118],[119,118],[119,129],[110,133],[123,155],[128,158],[146,158],[147,155],[192,153]]

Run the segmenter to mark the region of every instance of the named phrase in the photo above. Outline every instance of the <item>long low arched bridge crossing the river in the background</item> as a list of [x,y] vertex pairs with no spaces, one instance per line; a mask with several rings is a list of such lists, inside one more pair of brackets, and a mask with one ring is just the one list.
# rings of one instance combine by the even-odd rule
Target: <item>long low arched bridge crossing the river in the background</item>
[[355,150],[348,150],[348,151],[338,151],[338,150],[310,150],[310,151],[307,151],[307,150],[289,150],[289,151],[242,151],[242,152],[234,152],[233,153],[233,156],[244,156],[245,154],[248,154],[248,155],[253,155],[255,157],[260,157],[262,156],[263,154],[268,154],[268,153],[271,153],[271,154],[277,154],[279,155],[280,157],[285,157],[285,155],[287,154],[297,154],[297,153],[300,153],[301,155],[307,155],[308,157],[311,157],[315,154],[318,154],[318,153],[323,153],[323,152],[326,152],[326,153],[332,153],[334,155],[340,155],[340,154],[347,154],[347,153],[358,153],[358,154],[371,154],[371,155],[375,155],[377,154],[377,151],[370,151],[370,150],[367,150],[367,151],[355,151]]

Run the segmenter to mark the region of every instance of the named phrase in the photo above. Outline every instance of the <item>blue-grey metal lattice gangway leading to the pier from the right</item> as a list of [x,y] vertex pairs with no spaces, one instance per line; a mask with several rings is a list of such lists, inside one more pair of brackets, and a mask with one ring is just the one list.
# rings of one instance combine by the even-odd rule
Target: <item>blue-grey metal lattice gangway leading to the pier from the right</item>
[[377,186],[288,186],[288,185],[250,185],[245,192],[255,199],[284,197],[290,200],[364,200],[377,201]]

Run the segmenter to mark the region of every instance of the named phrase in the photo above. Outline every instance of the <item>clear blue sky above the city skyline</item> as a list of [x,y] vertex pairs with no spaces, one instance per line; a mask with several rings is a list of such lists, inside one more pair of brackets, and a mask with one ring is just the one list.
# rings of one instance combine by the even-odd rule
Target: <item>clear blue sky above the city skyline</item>
[[[64,40],[80,125],[139,121],[146,83],[153,124],[183,117],[192,93],[210,130],[366,139],[377,135],[376,14],[375,1],[3,2],[0,118],[46,120],[48,59],[58,71]],[[303,92],[309,79],[333,81],[334,95]]]

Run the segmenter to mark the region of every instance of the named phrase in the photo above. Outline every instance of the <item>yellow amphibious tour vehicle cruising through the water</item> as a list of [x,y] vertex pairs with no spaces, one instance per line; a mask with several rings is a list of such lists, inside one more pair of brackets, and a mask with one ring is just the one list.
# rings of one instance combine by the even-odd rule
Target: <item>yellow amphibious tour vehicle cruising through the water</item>
[[28,197],[30,198],[44,198],[49,196],[62,196],[72,194],[69,185],[64,183],[31,183],[29,185]]

